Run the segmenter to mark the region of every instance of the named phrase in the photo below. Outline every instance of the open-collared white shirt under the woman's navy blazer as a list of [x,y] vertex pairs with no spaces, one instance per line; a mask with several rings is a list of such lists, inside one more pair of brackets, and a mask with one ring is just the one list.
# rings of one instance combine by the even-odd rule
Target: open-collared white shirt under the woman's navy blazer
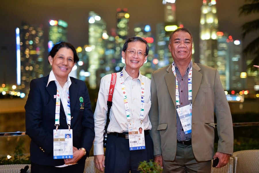
[[48,80],[47,86],[49,85],[49,82],[51,82],[53,80],[55,81],[55,84],[57,86],[57,89],[58,89],[58,92],[60,95],[60,100],[61,100],[62,106],[64,108],[65,115],[67,115],[66,114],[67,113],[67,87],[69,88],[69,86],[71,85],[70,77],[69,76],[67,77],[67,81],[62,88],[61,85],[58,83],[58,80],[56,79],[53,71],[51,70],[51,72],[49,73],[49,80]]

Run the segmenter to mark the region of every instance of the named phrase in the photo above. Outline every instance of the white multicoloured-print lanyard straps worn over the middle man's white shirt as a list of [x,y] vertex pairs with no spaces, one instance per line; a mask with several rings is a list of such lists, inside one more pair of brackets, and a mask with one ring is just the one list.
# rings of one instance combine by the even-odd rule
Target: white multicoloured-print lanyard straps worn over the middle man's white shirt
[[[130,113],[129,113],[129,105],[128,105],[128,99],[127,99],[127,94],[126,94],[126,89],[124,85],[124,79],[123,79],[123,74],[122,71],[120,73],[120,80],[121,80],[121,90],[123,94],[123,100],[124,100],[124,106],[126,110],[126,115],[127,115],[127,121],[131,121]],[[141,124],[142,120],[144,119],[144,83],[141,81],[141,106],[140,106],[140,117],[139,117]]]

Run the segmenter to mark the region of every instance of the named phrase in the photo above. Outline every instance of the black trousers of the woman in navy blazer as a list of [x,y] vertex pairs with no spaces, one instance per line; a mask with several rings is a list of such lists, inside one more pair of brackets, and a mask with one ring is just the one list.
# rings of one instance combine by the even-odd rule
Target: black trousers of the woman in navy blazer
[[31,173],[73,173],[84,172],[85,161],[77,163],[75,165],[58,168],[55,166],[45,166],[31,163]]

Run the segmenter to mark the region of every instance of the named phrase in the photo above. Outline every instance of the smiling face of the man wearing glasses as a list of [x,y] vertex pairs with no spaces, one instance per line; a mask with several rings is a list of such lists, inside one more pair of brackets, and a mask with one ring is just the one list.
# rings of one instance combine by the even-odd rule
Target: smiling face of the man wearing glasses
[[[130,53],[129,51],[134,51],[136,53]],[[146,44],[140,41],[129,42],[127,50],[125,52],[122,51],[122,58],[125,59],[126,71],[138,70],[146,61],[147,56],[139,55],[137,52],[142,52],[143,54],[146,52]]]

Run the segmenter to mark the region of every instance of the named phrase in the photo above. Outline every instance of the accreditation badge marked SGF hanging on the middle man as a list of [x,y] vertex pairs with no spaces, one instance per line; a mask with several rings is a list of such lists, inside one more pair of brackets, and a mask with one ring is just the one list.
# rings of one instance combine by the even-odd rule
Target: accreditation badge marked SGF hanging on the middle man
[[139,121],[128,125],[129,150],[143,150],[145,146],[144,124]]

